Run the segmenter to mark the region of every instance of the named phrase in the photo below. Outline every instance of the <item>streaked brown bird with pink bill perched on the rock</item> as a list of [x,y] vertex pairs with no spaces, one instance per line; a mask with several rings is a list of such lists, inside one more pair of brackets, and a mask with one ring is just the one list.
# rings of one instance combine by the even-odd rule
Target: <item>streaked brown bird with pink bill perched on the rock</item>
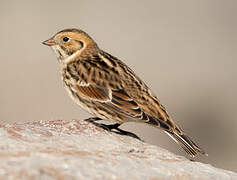
[[113,120],[113,128],[126,122],[145,123],[163,130],[191,158],[207,155],[173,121],[135,72],[100,49],[86,32],[64,29],[42,43],[54,50],[65,89],[74,102],[94,115],[91,120]]

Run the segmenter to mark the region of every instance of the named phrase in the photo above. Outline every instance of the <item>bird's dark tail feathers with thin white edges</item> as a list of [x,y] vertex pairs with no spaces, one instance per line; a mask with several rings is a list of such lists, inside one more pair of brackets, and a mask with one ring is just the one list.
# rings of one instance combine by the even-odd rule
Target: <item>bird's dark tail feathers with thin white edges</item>
[[196,145],[186,134],[178,132],[165,131],[172,139],[174,139],[191,157],[197,154],[206,154],[198,145]]

